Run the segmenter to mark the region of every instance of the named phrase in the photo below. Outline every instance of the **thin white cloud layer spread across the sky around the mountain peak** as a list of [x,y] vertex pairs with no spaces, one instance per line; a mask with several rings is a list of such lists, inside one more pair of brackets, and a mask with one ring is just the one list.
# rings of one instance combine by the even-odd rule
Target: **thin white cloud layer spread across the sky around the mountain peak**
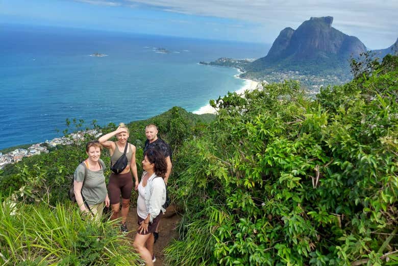
[[[333,27],[355,35],[365,45],[389,46],[398,37],[398,1],[396,0],[80,0],[96,3],[139,4],[166,12],[186,15],[210,16],[234,19],[263,27],[263,40],[272,42],[279,32],[291,27],[296,29],[311,16],[333,16]],[[379,32],[376,32],[379,31]],[[396,36],[381,32],[395,32]],[[360,34],[360,35],[359,35]],[[379,35],[378,39],[374,35]],[[379,47],[382,48],[382,47]]]

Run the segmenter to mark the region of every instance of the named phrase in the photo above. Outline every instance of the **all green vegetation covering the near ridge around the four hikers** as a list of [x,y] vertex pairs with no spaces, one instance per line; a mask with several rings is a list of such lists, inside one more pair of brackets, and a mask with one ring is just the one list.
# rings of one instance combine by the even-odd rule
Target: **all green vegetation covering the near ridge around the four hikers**
[[[137,162],[147,123],[174,150],[169,191],[182,220],[166,264],[398,264],[398,57],[354,60],[352,71],[316,99],[286,81],[211,101],[215,118],[174,107],[129,124]],[[111,222],[82,221],[68,202],[84,158],[76,143],[0,172],[1,264],[138,263]]]

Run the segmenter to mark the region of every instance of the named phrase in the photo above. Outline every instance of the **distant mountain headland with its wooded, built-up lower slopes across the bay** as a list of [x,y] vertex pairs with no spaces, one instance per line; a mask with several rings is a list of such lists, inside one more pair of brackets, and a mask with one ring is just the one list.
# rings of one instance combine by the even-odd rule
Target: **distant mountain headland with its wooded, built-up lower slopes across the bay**
[[[310,94],[320,87],[338,85],[352,79],[350,58],[367,51],[366,46],[354,36],[346,35],[332,27],[333,17],[311,17],[293,30],[283,29],[272,43],[265,57],[257,60],[219,58],[202,65],[228,66],[239,69],[242,79],[268,82],[297,80]],[[376,50],[379,58],[398,51],[398,39],[387,49]]]

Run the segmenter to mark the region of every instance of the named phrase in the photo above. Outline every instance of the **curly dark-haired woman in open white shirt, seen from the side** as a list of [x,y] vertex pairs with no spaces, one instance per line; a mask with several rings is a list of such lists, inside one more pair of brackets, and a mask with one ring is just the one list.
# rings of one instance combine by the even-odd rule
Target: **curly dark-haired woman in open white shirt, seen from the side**
[[167,172],[164,156],[154,149],[145,152],[142,161],[141,181],[138,185],[137,214],[138,230],[134,239],[134,248],[145,260],[146,265],[153,265],[154,234],[160,220],[162,205],[166,201],[166,185],[163,177]]

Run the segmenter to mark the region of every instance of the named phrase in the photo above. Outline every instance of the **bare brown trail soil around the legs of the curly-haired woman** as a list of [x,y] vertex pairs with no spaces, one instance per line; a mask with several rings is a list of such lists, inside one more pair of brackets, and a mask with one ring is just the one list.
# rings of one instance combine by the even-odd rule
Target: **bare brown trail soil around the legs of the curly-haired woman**
[[[155,266],[163,265],[164,255],[163,249],[170,243],[172,239],[178,238],[177,224],[181,217],[176,213],[174,205],[170,205],[166,212],[162,215],[159,225],[159,238],[154,245],[154,253],[156,257]],[[131,244],[137,233],[137,208],[130,208],[127,216],[127,226],[129,229],[128,237],[131,238]]]

